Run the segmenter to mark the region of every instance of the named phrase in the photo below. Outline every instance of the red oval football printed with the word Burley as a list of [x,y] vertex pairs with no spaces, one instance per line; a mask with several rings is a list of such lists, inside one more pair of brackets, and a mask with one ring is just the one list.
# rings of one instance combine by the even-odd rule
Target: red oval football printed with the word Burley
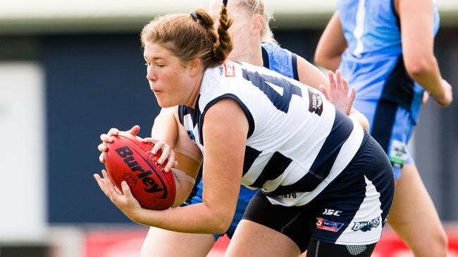
[[156,163],[161,152],[149,152],[153,145],[142,138],[123,133],[113,136],[104,153],[106,171],[119,190],[125,180],[140,205],[146,209],[163,210],[175,201],[176,187],[172,171],[163,171],[166,162]]

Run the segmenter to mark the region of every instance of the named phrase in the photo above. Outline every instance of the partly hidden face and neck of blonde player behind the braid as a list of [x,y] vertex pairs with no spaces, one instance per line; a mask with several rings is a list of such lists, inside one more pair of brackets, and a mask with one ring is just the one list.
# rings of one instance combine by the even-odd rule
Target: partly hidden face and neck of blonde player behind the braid
[[[213,0],[209,6],[209,13],[215,22],[215,28],[218,29],[219,17],[221,12],[221,0]],[[229,34],[233,39],[233,51],[228,58],[238,60],[240,56],[249,52],[249,34],[252,25],[252,19],[245,8],[237,6],[237,1],[228,1],[228,14],[233,19],[233,25],[229,28]]]

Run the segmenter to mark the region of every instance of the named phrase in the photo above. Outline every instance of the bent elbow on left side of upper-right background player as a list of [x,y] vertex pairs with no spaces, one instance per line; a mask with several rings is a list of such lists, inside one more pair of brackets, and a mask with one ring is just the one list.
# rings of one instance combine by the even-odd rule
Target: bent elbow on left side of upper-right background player
[[321,67],[335,71],[340,65],[340,59],[345,49],[347,49],[347,41],[336,11],[318,41],[314,60]]

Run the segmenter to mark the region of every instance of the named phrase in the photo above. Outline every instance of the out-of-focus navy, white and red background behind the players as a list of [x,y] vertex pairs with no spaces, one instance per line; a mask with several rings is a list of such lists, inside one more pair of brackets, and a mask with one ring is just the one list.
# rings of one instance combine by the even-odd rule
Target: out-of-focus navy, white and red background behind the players
[[[281,46],[313,61],[335,1],[264,0]],[[0,257],[138,256],[147,228],[99,190],[99,135],[159,111],[139,33],[209,0],[0,0]],[[438,0],[435,53],[458,98],[458,1]],[[458,104],[430,100],[410,145],[458,256]],[[414,217],[412,217],[414,218]],[[220,256],[227,239],[209,256]],[[389,228],[374,256],[411,256]],[[382,248],[384,250],[382,250]]]

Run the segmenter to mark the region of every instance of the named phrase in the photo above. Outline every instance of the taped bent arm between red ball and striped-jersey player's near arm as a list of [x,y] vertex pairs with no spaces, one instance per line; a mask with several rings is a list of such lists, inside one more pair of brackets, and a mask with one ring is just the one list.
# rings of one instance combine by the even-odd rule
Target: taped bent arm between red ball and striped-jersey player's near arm
[[[176,160],[175,167],[171,169],[177,184],[177,193],[172,207],[180,206],[190,195],[195,178],[202,164],[202,153],[187,136],[187,131],[178,120],[178,107],[164,108],[154,119],[151,129],[151,138],[163,140],[173,148],[167,157]],[[168,147],[166,145],[166,147]],[[158,146],[159,147],[159,146]],[[155,149],[157,150],[157,149]],[[162,157],[161,157],[162,158]],[[163,162],[163,159],[159,161]]]

